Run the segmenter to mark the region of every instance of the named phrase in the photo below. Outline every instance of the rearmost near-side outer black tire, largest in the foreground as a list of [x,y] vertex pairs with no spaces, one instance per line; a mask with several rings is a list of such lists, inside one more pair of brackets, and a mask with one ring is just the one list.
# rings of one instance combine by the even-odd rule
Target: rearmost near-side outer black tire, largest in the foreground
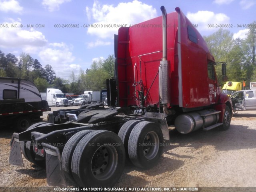
[[113,132],[97,130],[78,143],[72,157],[72,174],[79,186],[113,186],[124,165],[121,139]]

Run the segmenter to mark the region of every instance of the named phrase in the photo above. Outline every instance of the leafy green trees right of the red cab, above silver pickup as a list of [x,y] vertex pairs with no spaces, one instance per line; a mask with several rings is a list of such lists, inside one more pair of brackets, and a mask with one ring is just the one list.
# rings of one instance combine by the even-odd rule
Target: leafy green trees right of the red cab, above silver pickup
[[[246,87],[250,87],[250,82],[256,81],[256,21],[249,26],[245,39],[233,39],[233,34],[222,28],[209,36],[204,36],[215,61],[227,63],[228,81],[244,81]],[[221,65],[217,64],[216,71],[219,84],[223,84]]]

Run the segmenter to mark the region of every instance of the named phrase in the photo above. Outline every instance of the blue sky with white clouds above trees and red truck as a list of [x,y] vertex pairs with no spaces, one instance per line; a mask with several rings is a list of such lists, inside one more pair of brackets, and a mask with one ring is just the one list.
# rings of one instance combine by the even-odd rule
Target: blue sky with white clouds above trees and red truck
[[256,20],[256,0],[0,0],[0,50],[28,53],[69,80],[72,71],[114,54],[118,28],[100,25],[137,24],[161,16],[162,5],[167,13],[180,7],[202,35],[219,29],[209,24],[230,24],[234,38],[246,38],[243,25]]

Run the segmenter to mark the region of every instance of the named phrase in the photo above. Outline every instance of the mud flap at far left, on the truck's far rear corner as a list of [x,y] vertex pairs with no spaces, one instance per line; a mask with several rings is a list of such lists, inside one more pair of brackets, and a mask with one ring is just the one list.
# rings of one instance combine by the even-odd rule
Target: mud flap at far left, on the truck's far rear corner
[[9,156],[9,163],[16,166],[23,167],[22,154],[20,150],[20,142],[18,133],[14,133],[12,135],[12,140],[10,142],[11,152]]

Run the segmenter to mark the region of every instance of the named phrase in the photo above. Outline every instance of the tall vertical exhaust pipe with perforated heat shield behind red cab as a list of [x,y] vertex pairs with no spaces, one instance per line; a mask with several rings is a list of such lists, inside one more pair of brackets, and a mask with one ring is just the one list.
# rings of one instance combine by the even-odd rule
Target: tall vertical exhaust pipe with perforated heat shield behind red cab
[[159,97],[166,114],[171,114],[167,104],[170,103],[170,61],[167,60],[167,14],[164,6],[161,6],[163,15],[162,38],[163,38],[163,57],[159,66]]

